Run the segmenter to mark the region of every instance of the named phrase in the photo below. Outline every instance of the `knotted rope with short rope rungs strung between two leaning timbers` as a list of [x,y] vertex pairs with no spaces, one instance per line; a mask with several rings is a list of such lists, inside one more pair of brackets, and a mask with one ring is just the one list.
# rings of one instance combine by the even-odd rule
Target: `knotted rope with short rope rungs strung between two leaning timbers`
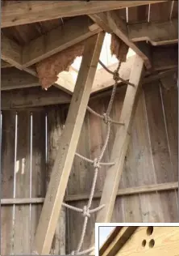
[[[85,205],[83,208],[78,208],[78,207],[73,207],[73,206],[71,206],[67,203],[62,203],[62,205],[64,207],[67,207],[68,209],[73,210],[73,211],[77,211],[77,212],[81,213],[81,215],[84,217],[83,227],[82,227],[82,231],[81,231],[81,237],[80,237],[80,241],[78,242],[78,245],[77,245],[77,250],[73,250],[71,252],[71,254],[69,254],[69,255],[85,255],[85,254],[90,254],[90,252],[92,252],[94,250],[94,246],[90,247],[87,250],[82,250],[82,251],[81,251],[81,247],[82,247],[83,242],[84,242],[86,228],[87,228],[87,224],[88,224],[88,220],[90,218],[90,215],[93,214],[94,212],[102,210],[102,208],[105,207],[105,205],[103,204],[103,205],[100,205],[100,206],[98,206],[94,209],[90,208],[91,204],[92,204],[92,201],[93,201],[93,198],[94,198],[94,190],[95,190],[95,186],[96,186],[96,182],[97,182],[97,178],[98,178],[98,170],[101,168],[102,165],[110,165],[111,166],[111,165],[115,164],[115,163],[109,163],[109,162],[108,163],[101,162],[102,157],[104,155],[104,152],[106,151],[107,144],[108,144],[109,139],[110,139],[111,124],[113,123],[113,124],[118,124],[118,125],[124,126],[123,123],[114,121],[110,118],[110,111],[112,109],[112,105],[113,105],[113,102],[114,102],[114,96],[115,96],[115,92],[116,92],[116,87],[119,83],[119,80],[121,80],[123,83],[131,85],[133,87],[135,86],[133,83],[130,83],[130,82],[122,79],[119,76],[119,69],[120,69],[120,66],[121,66],[121,62],[119,62],[119,65],[118,65],[117,69],[114,70],[114,72],[109,70],[100,60],[99,60],[99,63],[102,65],[102,67],[107,72],[109,72],[111,75],[113,75],[114,85],[113,85],[113,88],[112,88],[110,101],[109,101],[109,104],[107,106],[106,113],[99,114],[99,113],[95,112],[93,109],[91,109],[89,106],[87,107],[87,109],[90,113],[94,114],[96,117],[102,118],[103,122],[106,124],[106,126],[107,126],[106,139],[105,139],[105,143],[102,147],[102,151],[100,152],[100,155],[98,157],[96,157],[94,160],[90,160],[89,158],[87,158],[85,156],[81,156],[77,152],[75,154],[75,156],[80,157],[82,160],[85,160],[86,162],[89,162],[90,164],[94,165],[94,179],[93,179],[93,182],[92,182],[92,186],[91,186],[91,190],[90,190],[90,198],[88,200],[87,205]],[[37,254],[36,252],[33,252],[33,253]]]

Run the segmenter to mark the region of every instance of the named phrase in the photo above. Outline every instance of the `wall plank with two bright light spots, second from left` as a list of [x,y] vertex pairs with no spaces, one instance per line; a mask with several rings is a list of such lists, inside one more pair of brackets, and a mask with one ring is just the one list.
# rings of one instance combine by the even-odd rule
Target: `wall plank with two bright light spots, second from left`
[[[15,197],[30,196],[30,113],[18,113]],[[30,254],[30,205],[15,206],[15,254]]]

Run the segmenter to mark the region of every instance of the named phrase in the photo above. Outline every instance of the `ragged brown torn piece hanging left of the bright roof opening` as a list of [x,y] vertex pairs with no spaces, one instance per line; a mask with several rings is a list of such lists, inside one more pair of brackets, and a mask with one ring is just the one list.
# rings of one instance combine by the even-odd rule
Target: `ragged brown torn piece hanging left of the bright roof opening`
[[68,70],[74,59],[83,54],[84,44],[85,41],[82,41],[36,64],[36,71],[43,88],[51,87],[56,83],[59,73]]

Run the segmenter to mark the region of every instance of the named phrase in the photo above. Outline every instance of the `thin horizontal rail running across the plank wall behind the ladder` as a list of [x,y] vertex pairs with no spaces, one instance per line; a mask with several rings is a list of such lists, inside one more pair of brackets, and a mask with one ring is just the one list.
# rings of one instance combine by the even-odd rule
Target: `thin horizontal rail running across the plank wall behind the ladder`
[[[178,182],[169,182],[162,184],[154,184],[147,186],[138,186],[132,188],[119,189],[117,193],[118,196],[132,195],[132,194],[148,194],[153,192],[167,191],[167,190],[178,190]],[[96,192],[94,194],[94,199],[101,198],[102,192]],[[88,200],[90,194],[68,194],[65,196],[65,202],[75,202]],[[44,198],[2,198],[1,205],[11,205],[11,204],[29,204],[29,203],[44,203]]]

